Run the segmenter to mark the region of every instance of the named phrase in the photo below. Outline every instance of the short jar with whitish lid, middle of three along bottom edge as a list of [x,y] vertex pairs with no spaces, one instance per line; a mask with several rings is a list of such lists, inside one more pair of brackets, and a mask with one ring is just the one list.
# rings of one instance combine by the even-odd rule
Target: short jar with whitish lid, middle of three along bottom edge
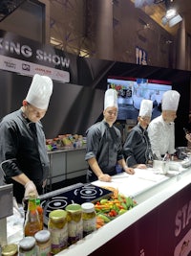
[[36,255],[35,239],[32,236],[23,238],[19,242],[19,256]]

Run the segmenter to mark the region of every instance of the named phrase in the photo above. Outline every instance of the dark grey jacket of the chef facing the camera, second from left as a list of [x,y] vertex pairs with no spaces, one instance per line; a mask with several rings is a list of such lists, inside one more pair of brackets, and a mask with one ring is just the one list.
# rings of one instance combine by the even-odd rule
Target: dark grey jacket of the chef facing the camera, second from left
[[[85,160],[96,158],[96,161],[104,174],[115,175],[117,161],[123,159],[121,134],[118,128],[109,127],[105,121],[93,125],[86,132],[87,147]],[[92,172],[90,181],[96,180]],[[90,172],[88,172],[90,174]]]

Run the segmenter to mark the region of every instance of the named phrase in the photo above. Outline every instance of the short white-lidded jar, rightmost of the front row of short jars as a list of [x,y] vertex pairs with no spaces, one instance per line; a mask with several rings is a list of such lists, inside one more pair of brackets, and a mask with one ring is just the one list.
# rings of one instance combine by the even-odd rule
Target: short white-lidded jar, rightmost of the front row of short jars
[[36,255],[50,256],[51,255],[51,232],[49,230],[40,230],[35,233],[36,240]]

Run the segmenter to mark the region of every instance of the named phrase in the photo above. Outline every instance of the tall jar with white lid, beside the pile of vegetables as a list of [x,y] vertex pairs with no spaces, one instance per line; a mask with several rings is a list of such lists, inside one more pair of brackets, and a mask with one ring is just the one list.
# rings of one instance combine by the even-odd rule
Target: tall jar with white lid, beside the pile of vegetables
[[92,202],[81,204],[83,220],[83,236],[87,236],[96,230],[96,211]]

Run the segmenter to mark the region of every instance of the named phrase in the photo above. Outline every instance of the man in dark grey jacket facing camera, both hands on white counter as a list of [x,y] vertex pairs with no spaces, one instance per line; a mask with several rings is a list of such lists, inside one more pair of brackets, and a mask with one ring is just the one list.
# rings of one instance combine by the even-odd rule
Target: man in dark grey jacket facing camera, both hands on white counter
[[117,110],[117,91],[108,89],[104,98],[103,120],[86,132],[85,160],[89,165],[87,182],[96,179],[110,182],[112,175],[117,175],[117,164],[128,174],[134,174],[134,170],[126,165],[122,153],[121,134],[114,126],[117,121]]

